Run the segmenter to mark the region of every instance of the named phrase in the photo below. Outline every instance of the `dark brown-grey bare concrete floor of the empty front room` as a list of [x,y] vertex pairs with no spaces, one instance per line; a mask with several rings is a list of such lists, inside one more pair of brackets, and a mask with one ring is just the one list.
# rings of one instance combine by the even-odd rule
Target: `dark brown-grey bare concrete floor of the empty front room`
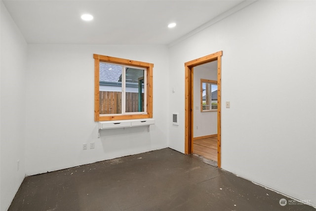
[[26,177],[9,211],[315,211],[172,149]]

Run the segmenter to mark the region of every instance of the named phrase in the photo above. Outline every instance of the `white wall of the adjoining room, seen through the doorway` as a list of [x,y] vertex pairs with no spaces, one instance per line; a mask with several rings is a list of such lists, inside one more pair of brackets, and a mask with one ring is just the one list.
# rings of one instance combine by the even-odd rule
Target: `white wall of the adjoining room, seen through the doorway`
[[201,79],[217,81],[217,61],[199,65],[193,71],[193,137],[217,134],[217,112],[201,112]]

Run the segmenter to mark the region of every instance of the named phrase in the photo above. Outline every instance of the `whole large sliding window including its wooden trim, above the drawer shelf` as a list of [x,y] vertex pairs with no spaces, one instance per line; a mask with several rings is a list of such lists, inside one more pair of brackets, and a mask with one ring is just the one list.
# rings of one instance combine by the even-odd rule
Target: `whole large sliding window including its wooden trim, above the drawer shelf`
[[93,54],[94,120],[153,117],[154,64]]

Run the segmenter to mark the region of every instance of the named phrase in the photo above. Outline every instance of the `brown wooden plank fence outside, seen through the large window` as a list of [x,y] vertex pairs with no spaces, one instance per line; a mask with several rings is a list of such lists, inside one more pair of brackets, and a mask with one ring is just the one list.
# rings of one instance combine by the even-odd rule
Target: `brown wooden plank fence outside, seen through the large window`
[[[144,93],[142,93],[144,99]],[[138,93],[126,92],[126,112],[138,112]],[[121,114],[122,92],[100,91],[100,114]],[[144,100],[143,100],[144,108]],[[143,109],[144,111],[144,109]]]

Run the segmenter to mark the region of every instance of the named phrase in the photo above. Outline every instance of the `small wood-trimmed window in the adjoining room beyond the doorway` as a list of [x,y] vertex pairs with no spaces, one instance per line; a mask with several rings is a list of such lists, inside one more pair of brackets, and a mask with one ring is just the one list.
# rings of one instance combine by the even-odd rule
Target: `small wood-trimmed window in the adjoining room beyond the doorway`
[[201,79],[201,111],[217,111],[217,81]]

